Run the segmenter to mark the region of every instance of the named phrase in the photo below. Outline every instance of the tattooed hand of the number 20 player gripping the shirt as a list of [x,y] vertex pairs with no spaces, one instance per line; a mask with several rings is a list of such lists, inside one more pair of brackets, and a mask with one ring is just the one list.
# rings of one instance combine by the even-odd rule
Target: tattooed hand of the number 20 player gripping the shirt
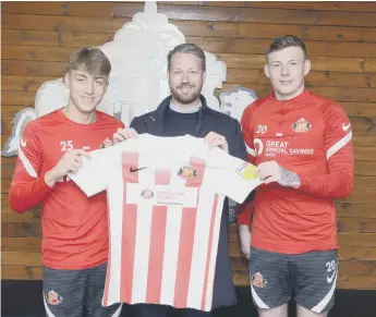
[[257,166],[257,174],[265,184],[277,182],[281,186],[293,188],[298,188],[301,185],[301,179],[296,173],[283,169],[276,161],[259,163]]

